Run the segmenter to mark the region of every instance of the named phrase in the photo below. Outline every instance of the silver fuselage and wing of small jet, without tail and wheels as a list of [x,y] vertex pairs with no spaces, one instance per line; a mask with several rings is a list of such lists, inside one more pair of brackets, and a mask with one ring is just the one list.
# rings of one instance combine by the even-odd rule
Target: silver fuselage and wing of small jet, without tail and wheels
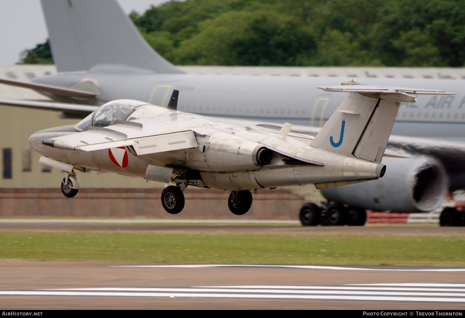
[[[172,179],[181,178],[183,170],[192,170],[199,172],[198,180],[192,181],[193,177],[188,184],[229,191],[356,182],[377,179],[384,173],[384,165],[379,163],[312,147],[309,136],[290,133],[286,138],[279,138],[277,132],[265,128],[227,124],[159,106],[146,107],[156,115],[128,121],[129,115],[124,122],[106,127],[84,127],[84,132],[76,129],[79,124],[57,127],[34,133],[29,142],[34,151],[72,164],[77,170],[146,178],[149,166],[170,166],[174,167],[176,175]],[[110,137],[94,140],[100,137],[93,136],[102,131]],[[165,141],[157,139],[156,145],[151,141],[153,137],[147,137],[161,138],[160,133],[162,137],[172,137]],[[118,134],[126,135],[121,140],[134,140],[134,146],[116,145],[86,151],[89,147],[86,145],[92,142],[118,142],[115,140]],[[85,136],[76,139],[74,136],[78,135]],[[60,141],[55,141],[52,147],[44,145],[44,140],[54,139]],[[66,140],[72,146],[67,146]],[[183,148],[185,142],[193,147]],[[162,144],[166,144],[166,148],[158,149]]]

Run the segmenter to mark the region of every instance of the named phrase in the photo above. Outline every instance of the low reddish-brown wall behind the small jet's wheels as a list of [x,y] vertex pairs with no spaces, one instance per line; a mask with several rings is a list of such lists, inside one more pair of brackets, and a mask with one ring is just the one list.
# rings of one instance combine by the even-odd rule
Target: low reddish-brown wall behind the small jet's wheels
[[157,219],[299,219],[303,196],[287,190],[259,190],[243,216],[228,209],[230,192],[184,191],[184,210],[171,215],[160,202],[162,189],[81,189],[66,198],[60,189],[0,189],[0,217],[93,217]]

